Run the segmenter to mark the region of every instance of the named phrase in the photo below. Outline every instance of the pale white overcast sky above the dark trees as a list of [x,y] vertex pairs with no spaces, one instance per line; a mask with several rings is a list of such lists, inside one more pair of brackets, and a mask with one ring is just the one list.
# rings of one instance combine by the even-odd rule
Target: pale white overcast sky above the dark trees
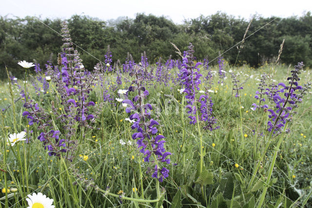
[[175,23],[184,19],[209,16],[217,11],[251,19],[254,14],[262,17],[302,16],[312,11],[311,0],[6,0],[1,2],[0,16],[68,19],[72,15],[88,15],[101,20],[137,13],[165,16]]

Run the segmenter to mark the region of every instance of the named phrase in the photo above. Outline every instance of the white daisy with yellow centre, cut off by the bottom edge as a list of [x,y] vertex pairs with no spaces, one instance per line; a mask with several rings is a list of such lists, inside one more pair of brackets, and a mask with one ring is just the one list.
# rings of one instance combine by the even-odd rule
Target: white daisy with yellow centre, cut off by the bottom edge
[[27,208],[55,208],[53,204],[53,199],[46,197],[42,193],[33,193],[33,195],[28,194],[26,201],[28,202]]

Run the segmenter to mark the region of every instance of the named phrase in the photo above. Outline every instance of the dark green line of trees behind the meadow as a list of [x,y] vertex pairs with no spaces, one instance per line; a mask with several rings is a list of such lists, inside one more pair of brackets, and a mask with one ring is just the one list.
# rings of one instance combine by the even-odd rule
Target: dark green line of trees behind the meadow
[[[56,32],[60,33],[62,21],[38,21],[35,17],[0,17],[0,78],[5,77],[5,73],[2,73],[4,63],[18,77],[22,75],[17,65],[20,60],[36,60],[41,66],[49,60],[56,63],[57,55],[62,51],[62,38]],[[232,48],[222,56],[233,64],[239,42],[250,22],[220,12],[184,20],[182,24],[151,14],[137,14],[135,19],[118,18],[110,21],[74,15],[66,21],[72,40],[77,44],[75,47],[88,69],[93,69],[98,60],[104,61],[108,45],[113,62],[124,62],[128,52],[139,62],[144,51],[150,63],[157,62],[159,57],[166,60],[170,55],[173,59],[178,59],[170,42],[175,43],[181,52],[192,42],[198,60],[214,60],[219,54]],[[250,37],[245,40],[236,64],[247,63],[256,67],[264,62],[274,62],[280,44],[285,39],[280,62],[295,64],[303,61],[312,66],[310,12],[301,17],[289,18],[255,16],[246,34],[248,36]],[[234,46],[236,43],[239,43],[237,47]]]

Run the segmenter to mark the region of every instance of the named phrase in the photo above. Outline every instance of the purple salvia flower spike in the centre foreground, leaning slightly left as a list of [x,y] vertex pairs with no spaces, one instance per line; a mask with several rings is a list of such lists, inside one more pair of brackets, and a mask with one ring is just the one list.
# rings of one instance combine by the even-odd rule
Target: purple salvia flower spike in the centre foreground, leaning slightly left
[[[139,152],[144,155],[144,162],[151,162],[155,164],[153,178],[157,178],[159,182],[168,177],[169,170],[165,167],[159,168],[159,162],[170,164],[170,159],[167,158],[171,155],[170,152],[166,152],[164,148],[165,137],[161,134],[157,134],[157,125],[159,123],[151,118],[151,104],[144,104],[144,99],[149,95],[149,92],[142,86],[144,82],[143,69],[135,67],[130,72],[130,76],[135,76],[136,79],[132,81],[133,85],[129,87],[130,92],[137,91],[137,95],[131,100],[124,100],[124,104],[128,104],[126,112],[133,113],[129,120],[133,125],[132,129],[137,129],[137,132],[132,135],[132,139],[137,140],[137,147]],[[138,104],[134,104],[138,103]],[[151,159],[151,156],[153,156]],[[155,161],[157,160],[157,161]],[[147,173],[150,173],[151,168],[148,168]]]

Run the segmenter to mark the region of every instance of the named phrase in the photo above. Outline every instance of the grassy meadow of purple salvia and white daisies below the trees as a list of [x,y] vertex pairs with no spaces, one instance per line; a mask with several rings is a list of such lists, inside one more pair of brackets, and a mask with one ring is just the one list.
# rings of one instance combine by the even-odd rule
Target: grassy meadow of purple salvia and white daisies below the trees
[[1,83],[0,207],[312,207],[302,62],[209,66],[190,43],[85,69],[62,36],[57,64]]

